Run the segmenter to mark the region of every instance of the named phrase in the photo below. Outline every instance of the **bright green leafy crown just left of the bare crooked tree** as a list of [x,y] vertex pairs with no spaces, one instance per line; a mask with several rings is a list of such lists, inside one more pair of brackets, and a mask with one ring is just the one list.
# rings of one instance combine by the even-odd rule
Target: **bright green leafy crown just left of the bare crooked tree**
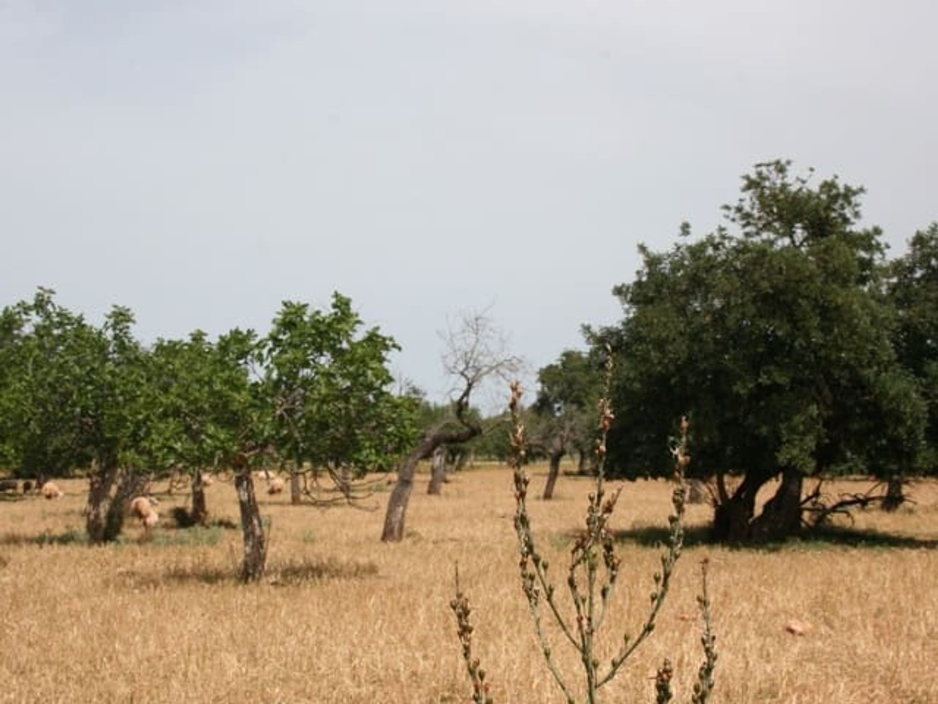
[[377,328],[362,330],[350,298],[329,311],[285,301],[259,346],[262,392],[272,409],[270,444],[300,475],[325,470],[344,497],[350,481],[386,468],[413,442],[413,404],[391,392],[388,357],[398,349]]

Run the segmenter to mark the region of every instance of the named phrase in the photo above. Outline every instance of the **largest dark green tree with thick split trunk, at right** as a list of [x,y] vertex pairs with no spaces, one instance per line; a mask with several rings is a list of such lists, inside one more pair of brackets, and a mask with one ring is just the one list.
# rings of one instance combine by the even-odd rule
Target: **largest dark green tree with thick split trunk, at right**
[[[635,281],[614,289],[624,319],[597,336],[622,360],[613,467],[665,473],[661,419],[689,412],[695,476],[715,479],[721,540],[797,531],[806,477],[920,468],[924,406],[892,345],[882,233],[857,226],[862,189],[837,177],[812,186],[789,167],[744,176],[742,197],[724,207],[734,233],[641,248]],[[775,478],[757,515],[756,495]]]

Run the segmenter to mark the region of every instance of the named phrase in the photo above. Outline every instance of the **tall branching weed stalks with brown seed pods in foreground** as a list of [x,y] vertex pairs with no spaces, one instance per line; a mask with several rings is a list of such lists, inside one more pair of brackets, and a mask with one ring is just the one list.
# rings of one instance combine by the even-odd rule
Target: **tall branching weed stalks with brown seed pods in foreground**
[[[632,654],[638,650],[645,639],[655,630],[656,620],[661,606],[671,587],[674,566],[681,556],[684,544],[684,516],[686,489],[684,472],[690,463],[688,454],[687,419],[681,421],[681,436],[673,447],[674,482],[672,494],[673,513],[668,517],[669,535],[667,546],[660,556],[661,567],[653,575],[654,588],[651,591],[648,612],[636,635],[624,634],[620,639],[621,645],[612,658],[604,658],[598,652],[598,633],[609,613],[613,591],[616,587],[622,559],[616,551],[609,521],[613,515],[621,488],[608,493],[605,486],[606,465],[606,439],[613,422],[613,409],[609,401],[610,383],[612,379],[613,363],[610,355],[607,362],[606,382],[603,397],[599,402],[599,437],[597,440],[598,472],[596,486],[589,495],[589,504],[586,508],[585,528],[573,545],[570,562],[567,566],[565,586],[567,597],[572,605],[572,618],[564,615],[558,600],[556,589],[550,578],[550,565],[548,560],[539,552],[531,519],[527,509],[528,485],[530,479],[524,471],[525,451],[527,438],[524,433],[524,424],[521,421],[522,388],[517,382],[511,385],[511,401],[509,409],[514,424],[511,434],[511,460],[510,465],[514,480],[515,493],[515,532],[518,535],[520,552],[520,571],[522,591],[527,600],[531,618],[534,621],[537,642],[547,669],[553,681],[562,692],[567,704],[576,704],[575,692],[585,693],[586,704],[599,703],[599,690],[618,676]],[[703,644],[704,660],[698,671],[697,682],[694,685],[692,704],[706,704],[713,691],[713,673],[716,666],[717,651],[715,648],[716,636],[713,635],[710,621],[710,602],[707,593],[707,565],[704,561],[701,568],[702,594],[698,597],[698,604],[703,617]],[[560,589],[559,591],[564,591]],[[472,655],[473,627],[469,620],[471,610],[466,596],[459,585],[457,574],[456,599],[450,606],[456,613],[459,623],[459,636],[462,645],[462,655],[465,659],[469,677],[473,682],[473,701],[476,704],[492,704],[489,696],[489,683],[485,681],[485,671]],[[560,640],[566,641],[567,646],[576,651],[579,656],[581,668],[579,670],[579,684],[574,684],[574,675],[564,673],[554,658],[552,642],[548,637],[545,622],[552,620],[556,625]],[[655,678],[655,692],[659,704],[669,702],[673,698],[672,692],[673,668],[665,660]]]

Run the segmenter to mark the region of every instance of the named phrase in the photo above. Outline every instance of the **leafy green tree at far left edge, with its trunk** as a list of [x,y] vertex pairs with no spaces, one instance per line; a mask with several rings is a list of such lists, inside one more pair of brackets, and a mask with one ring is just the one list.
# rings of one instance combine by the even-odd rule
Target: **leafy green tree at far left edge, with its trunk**
[[39,482],[86,470],[88,538],[113,541],[139,486],[148,418],[146,355],[131,331],[133,314],[114,306],[98,329],[40,288],[2,319],[0,445]]

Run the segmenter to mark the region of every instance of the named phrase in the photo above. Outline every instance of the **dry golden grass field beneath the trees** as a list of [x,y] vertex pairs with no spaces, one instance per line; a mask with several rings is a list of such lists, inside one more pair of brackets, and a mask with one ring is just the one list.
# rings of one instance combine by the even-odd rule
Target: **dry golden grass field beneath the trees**
[[[537,492],[544,467],[531,470]],[[55,501],[0,501],[0,701],[469,701],[449,609],[453,564],[474,607],[475,648],[496,702],[559,702],[537,650],[517,576],[506,468],[455,476],[443,497],[416,488],[401,544],[378,542],[386,493],[368,512],[262,497],[271,520],[269,574],[234,581],[240,532],[161,525],[152,541],[129,522],[122,543],[82,543],[83,482]],[[568,477],[531,513],[554,565],[567,559],[590,482]],[[635,633],[670,508],[663,482],[626,485],[613,516],[625,568],[605,646]],[[860,513],[862,543],[811,541],[770,550],[691,543],[658,630],[604,701],[650,702],[671,657],[678,701],[700,661],[698,562],[712,564],[718,702],[938,702],[938,485],[921,483],[899,513]],[[186,497],[163,498],[160,512]],[[236,520],[234,488],[209,507]],[[705,507],[690,507],[688,526]],[[888,533],[886,538],[882,534]],[[557,570],[561,576],[562,570]],[[787,620],[809,621],[796,636]],[[577,662],[561,643],[561,665]]]

